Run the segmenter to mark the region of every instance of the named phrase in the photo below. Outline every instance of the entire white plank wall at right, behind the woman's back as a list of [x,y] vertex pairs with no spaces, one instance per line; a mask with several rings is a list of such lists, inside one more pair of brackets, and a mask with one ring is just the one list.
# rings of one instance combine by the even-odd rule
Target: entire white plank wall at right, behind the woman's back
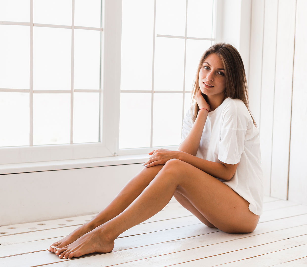
[[253,0],[249,90],[267,195],[307,204],[305,0]]

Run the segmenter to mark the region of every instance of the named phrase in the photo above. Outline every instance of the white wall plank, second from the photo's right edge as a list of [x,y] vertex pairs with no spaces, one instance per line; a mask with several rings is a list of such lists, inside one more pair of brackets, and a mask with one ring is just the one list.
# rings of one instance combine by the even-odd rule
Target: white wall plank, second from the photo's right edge
[[296,0],[278,2],[271,196],[281,199],[288,197],[295,8]]

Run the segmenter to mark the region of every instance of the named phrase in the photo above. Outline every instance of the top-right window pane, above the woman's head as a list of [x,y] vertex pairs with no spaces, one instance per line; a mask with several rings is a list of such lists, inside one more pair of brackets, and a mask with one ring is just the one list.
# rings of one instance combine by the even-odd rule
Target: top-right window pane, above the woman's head
[[212,5],[213,0],[188,1],[188,37],[212,37]]

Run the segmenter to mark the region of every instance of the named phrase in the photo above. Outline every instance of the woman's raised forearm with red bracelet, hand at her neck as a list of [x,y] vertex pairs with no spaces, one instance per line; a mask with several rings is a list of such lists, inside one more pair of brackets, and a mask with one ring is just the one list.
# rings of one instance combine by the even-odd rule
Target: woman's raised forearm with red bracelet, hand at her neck
[[[196,120],[191,128],[191,131],[188,133],[187,137],[184,139],[184,141],[180,144],[178,147],[179,151],[186,152],[188,154],[191,154],[193,156],[196,156],[201,135],[204,130],[204,126],[208,117],[208,110],[210,110],[209,104],[206,102],[204,97],[201,94],[201,91],[198,90],[198,92],[195,95],[196,103],[198,104],[200,110],[197,114]],[[205,108],[205,109],[202,109]]]

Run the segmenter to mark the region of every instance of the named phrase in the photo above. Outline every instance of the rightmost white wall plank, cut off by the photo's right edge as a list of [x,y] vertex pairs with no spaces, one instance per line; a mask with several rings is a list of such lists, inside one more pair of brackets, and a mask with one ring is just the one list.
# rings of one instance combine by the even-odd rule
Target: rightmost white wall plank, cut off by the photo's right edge
[[289,200],[307,204],[307,1],[297,0],[290,143]]

